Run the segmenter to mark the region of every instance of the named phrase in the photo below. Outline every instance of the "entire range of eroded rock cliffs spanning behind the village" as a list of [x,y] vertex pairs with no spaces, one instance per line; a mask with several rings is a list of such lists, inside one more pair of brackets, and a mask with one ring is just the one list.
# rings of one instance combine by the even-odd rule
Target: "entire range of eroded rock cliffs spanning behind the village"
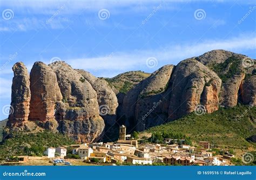
[[7,126],[31,130],[37,124],[78,143],[97,141],[107,126],[114,134],[118,124],[140,131],[173,121],[198,105],[212,113],[238,102],[256,104],[255,60],[224,50],[166,65],[152,74],[127,72],[111,79],[73,70],[64,61],[36,62],[30,79],[23,63],[13,70],[14,111]]

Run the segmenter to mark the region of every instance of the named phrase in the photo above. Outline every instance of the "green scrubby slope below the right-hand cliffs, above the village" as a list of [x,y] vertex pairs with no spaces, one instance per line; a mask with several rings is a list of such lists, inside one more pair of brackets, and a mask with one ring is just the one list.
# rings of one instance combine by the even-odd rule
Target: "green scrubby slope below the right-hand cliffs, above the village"
[[256,107],[238,105],[201,116],[191,113],[179,120],[152,127],[146,133],[170,131],[190,136],[194,142],[210,141],[211,144],[238,148],[256,147],[256,143],[246,141],[247,137],[256,134],[255,117]]

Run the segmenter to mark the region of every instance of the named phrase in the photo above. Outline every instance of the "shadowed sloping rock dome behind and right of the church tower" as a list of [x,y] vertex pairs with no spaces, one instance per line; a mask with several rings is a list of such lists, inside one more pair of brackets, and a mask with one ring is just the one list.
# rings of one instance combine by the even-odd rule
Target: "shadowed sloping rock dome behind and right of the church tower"
[[[163,123],[163,120],[159,122],[160,116],[156,115],[163,99],[163,96],[159,94],[167,88],[173,67],[173,65],[161,67],[125,95],[120,116],[125,119],[126,126],[134,125],[137,130],[143,130]],[[150,113],[147,114],[148,112]],[[153,117],[149,118],[149,116]]]

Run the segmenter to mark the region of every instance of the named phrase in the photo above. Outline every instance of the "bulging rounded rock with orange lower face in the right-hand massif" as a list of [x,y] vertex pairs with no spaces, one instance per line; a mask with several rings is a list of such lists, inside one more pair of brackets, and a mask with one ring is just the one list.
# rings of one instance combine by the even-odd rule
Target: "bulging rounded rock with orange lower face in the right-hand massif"
[[197,105],[208,113],[218,110],[221,80],[216,73],[191,58],[181,61],[172,75],[169,118],[177,119]]

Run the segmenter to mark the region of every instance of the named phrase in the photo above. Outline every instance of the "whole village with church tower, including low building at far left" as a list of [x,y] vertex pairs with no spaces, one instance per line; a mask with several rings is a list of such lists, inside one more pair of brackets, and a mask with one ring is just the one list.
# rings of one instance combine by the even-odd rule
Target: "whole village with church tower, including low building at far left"
[[[126,135],[126,127],[123,125],[119,128],[117,142],[48,147],[44,151],[45,156],[38,157],[39,164],[34,164],[37,157],[31,156],[18,156],[18,162],[21,165],[28,162],[32,162],[30,165],[40,165],[43,160],[47,161],[47,165],[233,165],[230,160],[234,155],[227,152],[214,156],[209,142],[200,141],[196,148],[179,145],[177,141],[165,139],[165,144],[139,144],[130,134]],[[72,156],[67,156],[68,149]]]

